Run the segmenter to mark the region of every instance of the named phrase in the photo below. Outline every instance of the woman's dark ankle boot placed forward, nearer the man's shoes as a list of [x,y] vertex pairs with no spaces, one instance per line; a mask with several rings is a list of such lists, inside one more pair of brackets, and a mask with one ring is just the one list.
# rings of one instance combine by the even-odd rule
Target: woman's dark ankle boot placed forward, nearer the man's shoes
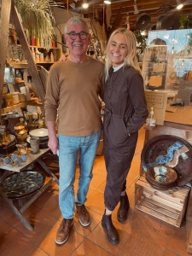
[[104,214],[102,216],[102,227],[106,232],[108,241],[112,244],[118,244],[119,243],[119,234],[118,234],[118,231],[113,226],[111,215]]

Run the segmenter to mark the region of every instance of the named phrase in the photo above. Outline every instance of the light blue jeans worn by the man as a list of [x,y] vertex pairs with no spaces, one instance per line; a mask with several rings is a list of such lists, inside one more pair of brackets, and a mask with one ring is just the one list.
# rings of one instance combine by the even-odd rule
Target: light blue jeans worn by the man
[[[83,205],[86,201],[90,180],[93,177],[92,168],[100,136],[100,131],[84,137],[59,135],[59,205],[63,218],[73,218],[74,204]],[[75,199],[73,183],[79,152],[79,186]]]

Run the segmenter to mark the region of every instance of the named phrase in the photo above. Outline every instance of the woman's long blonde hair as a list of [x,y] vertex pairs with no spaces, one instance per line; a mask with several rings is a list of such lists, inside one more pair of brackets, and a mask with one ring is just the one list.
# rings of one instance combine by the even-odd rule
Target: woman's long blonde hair
[[108,45],[106,48],[106,62],[105,62],[105,79],[108,79],[108,71],[109,68],[112,67],[112,61],[109,58],[109,46],[113,40],[113,36],[121,33],[125,37],[126,45],[127,45],[127,55],[125,57],[125,65],[134,67],[139,73],[141,73],[141,69],[139,67],[137,61],[137,39],[133,32],[127,30],[125,28],[116,29],[108,39]]

